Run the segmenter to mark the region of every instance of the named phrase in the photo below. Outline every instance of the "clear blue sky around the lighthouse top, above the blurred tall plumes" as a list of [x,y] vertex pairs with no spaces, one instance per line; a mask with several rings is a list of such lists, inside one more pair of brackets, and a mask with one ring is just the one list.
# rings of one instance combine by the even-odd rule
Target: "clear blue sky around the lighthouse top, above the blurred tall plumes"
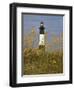
[[60,15],[36,15],[23,14],[23,34],[31,32],[34,26],[37,33],[39,33],[40,22],[44,22],[45,31],[48,32],[48,40],[52,37],[52,33],[59,36],[63,32],[63,16]]

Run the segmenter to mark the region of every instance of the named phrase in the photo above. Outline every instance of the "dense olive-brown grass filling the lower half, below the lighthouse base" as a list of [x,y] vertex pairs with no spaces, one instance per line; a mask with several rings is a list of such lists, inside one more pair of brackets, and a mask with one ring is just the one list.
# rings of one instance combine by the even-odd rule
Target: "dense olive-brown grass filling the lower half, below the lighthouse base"
[[63,53],[24,49],[24,75],[63,73]]

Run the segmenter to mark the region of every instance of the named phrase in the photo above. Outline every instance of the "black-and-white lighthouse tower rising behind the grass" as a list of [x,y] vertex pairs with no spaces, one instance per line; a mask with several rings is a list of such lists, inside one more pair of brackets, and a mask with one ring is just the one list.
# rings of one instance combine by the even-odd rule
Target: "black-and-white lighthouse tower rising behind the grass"
[[44,49],[45,50],[45,32],[44,32],[44,23],[40,23],[39,27],[39,49]]

